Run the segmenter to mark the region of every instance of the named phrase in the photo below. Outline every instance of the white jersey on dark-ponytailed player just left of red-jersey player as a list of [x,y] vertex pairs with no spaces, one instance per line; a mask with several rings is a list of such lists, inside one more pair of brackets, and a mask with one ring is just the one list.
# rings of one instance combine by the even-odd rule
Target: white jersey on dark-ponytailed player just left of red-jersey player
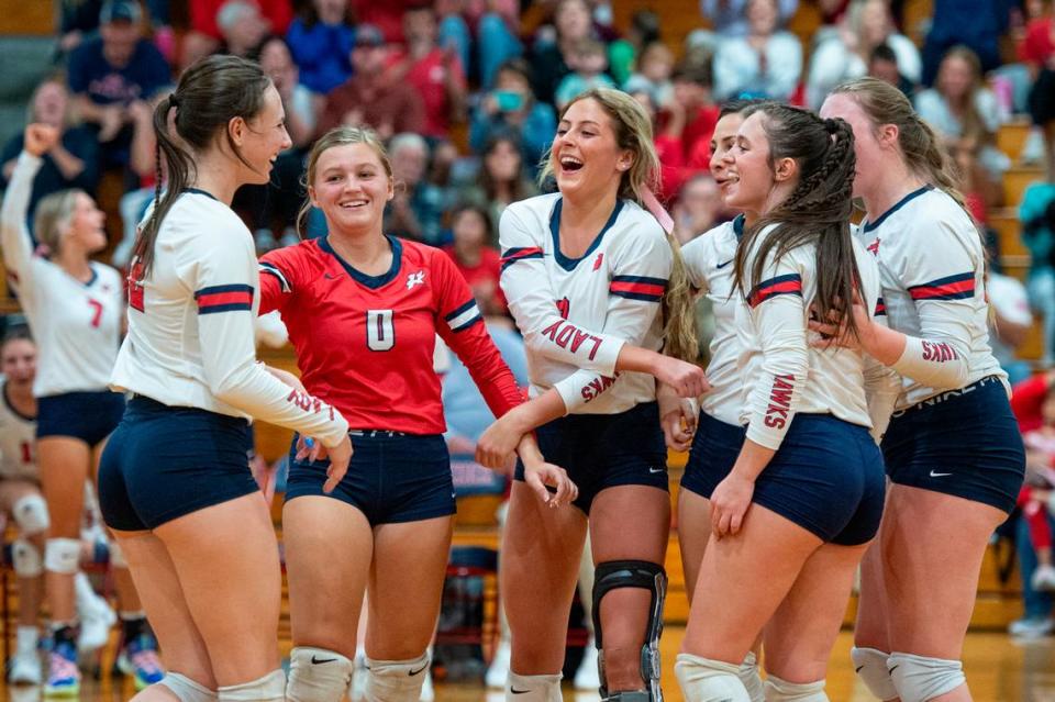
[[151,275],[132,267],[129,334],[111,385],[334,446],[348,431],[340,412],[256,363],[257,270],[253,236],[231,208],[201,190],[180,194],[158,232]]

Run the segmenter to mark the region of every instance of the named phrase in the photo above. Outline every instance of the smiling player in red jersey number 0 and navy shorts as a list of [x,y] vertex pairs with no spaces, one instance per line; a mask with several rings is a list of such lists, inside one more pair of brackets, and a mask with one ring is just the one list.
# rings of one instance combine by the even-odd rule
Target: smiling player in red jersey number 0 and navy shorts
[[[343,698],[368,589],[366,699],[418,702],[455,512],[436,335],[496,415],[522,399],[451,259],[384,233],[396,183],[377,136],[332,130],[312,148],[307,182],[329,235],[264,256],[260,310],[281,312],[304,387],[341,410],[356,452],[331,494],[325,461],[304,460],[296,447],[291,456],[282,511],[293,636],[287,698]],[[537,482],[544,499],[574,498],[534,439],[522,444],[532,471],[558,489],[549,500]]]

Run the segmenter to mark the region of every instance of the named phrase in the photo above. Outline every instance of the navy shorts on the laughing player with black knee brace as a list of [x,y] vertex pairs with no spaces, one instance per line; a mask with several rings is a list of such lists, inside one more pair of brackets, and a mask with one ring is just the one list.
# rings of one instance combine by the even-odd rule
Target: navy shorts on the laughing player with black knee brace
[[[606,488],[648,486],[669,490],[667,445],[659,426],[659,405],[638,404],[619,414],[569,414],[535,431],[546,460],[568,471],[579,488],[577,508],[590,513],[593,498]],[[517,461],[517,480],[524,465]]]

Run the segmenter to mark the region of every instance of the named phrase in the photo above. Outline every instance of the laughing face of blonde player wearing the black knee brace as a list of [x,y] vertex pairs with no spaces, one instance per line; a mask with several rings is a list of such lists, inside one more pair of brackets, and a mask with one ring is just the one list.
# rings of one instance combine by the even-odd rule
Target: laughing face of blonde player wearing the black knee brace
[[619,147],[612,118],[604,108],[586,98],[571,103],[560,119],[549,161],[560,193],[587,202],[619,191],[623,174],[633,165],[633,154]]

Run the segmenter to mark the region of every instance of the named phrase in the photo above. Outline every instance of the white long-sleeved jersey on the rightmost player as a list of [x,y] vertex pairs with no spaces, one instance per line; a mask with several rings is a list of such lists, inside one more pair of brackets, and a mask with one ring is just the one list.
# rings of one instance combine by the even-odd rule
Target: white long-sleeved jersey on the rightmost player
[[920,188],[857,236],[878,260],[890,328],[910,337],[893,366],[903,378],[898,409],[986,376],[1007,385],[989,346],[981,239],[952,197]]

